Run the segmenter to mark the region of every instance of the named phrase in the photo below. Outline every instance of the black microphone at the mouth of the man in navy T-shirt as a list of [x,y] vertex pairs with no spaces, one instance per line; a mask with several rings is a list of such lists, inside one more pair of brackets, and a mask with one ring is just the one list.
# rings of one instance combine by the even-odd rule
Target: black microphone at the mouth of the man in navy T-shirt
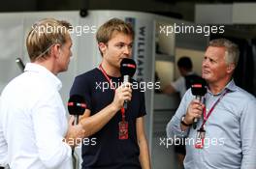
[[[120,64],[120,72],[123,77],[123,83],[130,81],[130,78],[134,75],[136,71],[136,63],[133,59],[124,58]],[[123,107],[127,109],[128,101],[124,100]]]

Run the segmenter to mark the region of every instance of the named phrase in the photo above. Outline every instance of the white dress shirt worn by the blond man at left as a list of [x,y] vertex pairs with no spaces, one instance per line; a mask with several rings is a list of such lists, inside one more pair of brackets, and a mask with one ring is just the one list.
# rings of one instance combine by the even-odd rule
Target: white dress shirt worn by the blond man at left
[[4,89],[0,126],[12,169],[72,168],[71,148],[62,141],[68,125],[60,88],[49,70],[27,64]]

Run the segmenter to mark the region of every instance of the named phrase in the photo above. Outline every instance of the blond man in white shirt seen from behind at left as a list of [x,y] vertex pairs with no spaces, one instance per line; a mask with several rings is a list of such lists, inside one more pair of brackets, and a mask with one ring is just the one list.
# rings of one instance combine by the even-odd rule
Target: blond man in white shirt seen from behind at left
[[73,143],[84,130],[73,126],[74,118],[67,123],[56,76],[68,70],[72,56],[70,26],[53,18],[33,25],[26,39],[31,63],[3,90],[0,130],[12,169],[72,168]]

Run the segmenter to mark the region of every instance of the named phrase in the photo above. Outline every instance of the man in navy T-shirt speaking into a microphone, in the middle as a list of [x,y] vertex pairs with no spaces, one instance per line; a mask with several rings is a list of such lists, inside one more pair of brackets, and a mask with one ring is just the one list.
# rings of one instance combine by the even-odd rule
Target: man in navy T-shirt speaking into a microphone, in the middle
[[[84,97],[87,108],[80,124],[86,136],[97,142],[82,145],[82,169],[149,169],[144,93],[126,85],[118,87],[122,81],[120,63],[131,57],[134,31],[130,24],[112,18],[98,29],[96,38],[102,62],[99,68],[77,76],[70,92]],[[103,84],[108,89],[103,90]],[[130,100],[125,112],[124,100]],[[120,129],[124,127],[122,119],[126,124],[125,135]]]

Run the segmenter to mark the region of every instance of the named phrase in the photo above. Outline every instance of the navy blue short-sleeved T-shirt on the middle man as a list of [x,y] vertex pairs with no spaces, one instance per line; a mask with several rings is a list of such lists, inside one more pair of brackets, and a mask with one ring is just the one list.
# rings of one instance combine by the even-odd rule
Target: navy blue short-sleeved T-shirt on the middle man
[[[121,77],[109,77],[113,84],[120,84],[122,81]],[[134,82],[136,81],[132,80],[132,83]],[[103,86],[105,86],[104,89]],[[92,116],[112,103],[114,90],[111,89],[110,83],[103,72],[99,69],[94,69],[76,77],[70,95],[83,96],[87,109],[91,111],[90,116]],[[118,123],[121,121],[121,113],[119,111],[105,127],[88,138],[90,140],[94,139],[96,144],[82,144],[82,169],[141,168],[139,161],[140,149],[136,135],[136,119],[144,115],[144,93],[135,87],[132,92],[132,100],[129,102],[128,109],[125,112],[129,138],[127,140],[118,139]]]

